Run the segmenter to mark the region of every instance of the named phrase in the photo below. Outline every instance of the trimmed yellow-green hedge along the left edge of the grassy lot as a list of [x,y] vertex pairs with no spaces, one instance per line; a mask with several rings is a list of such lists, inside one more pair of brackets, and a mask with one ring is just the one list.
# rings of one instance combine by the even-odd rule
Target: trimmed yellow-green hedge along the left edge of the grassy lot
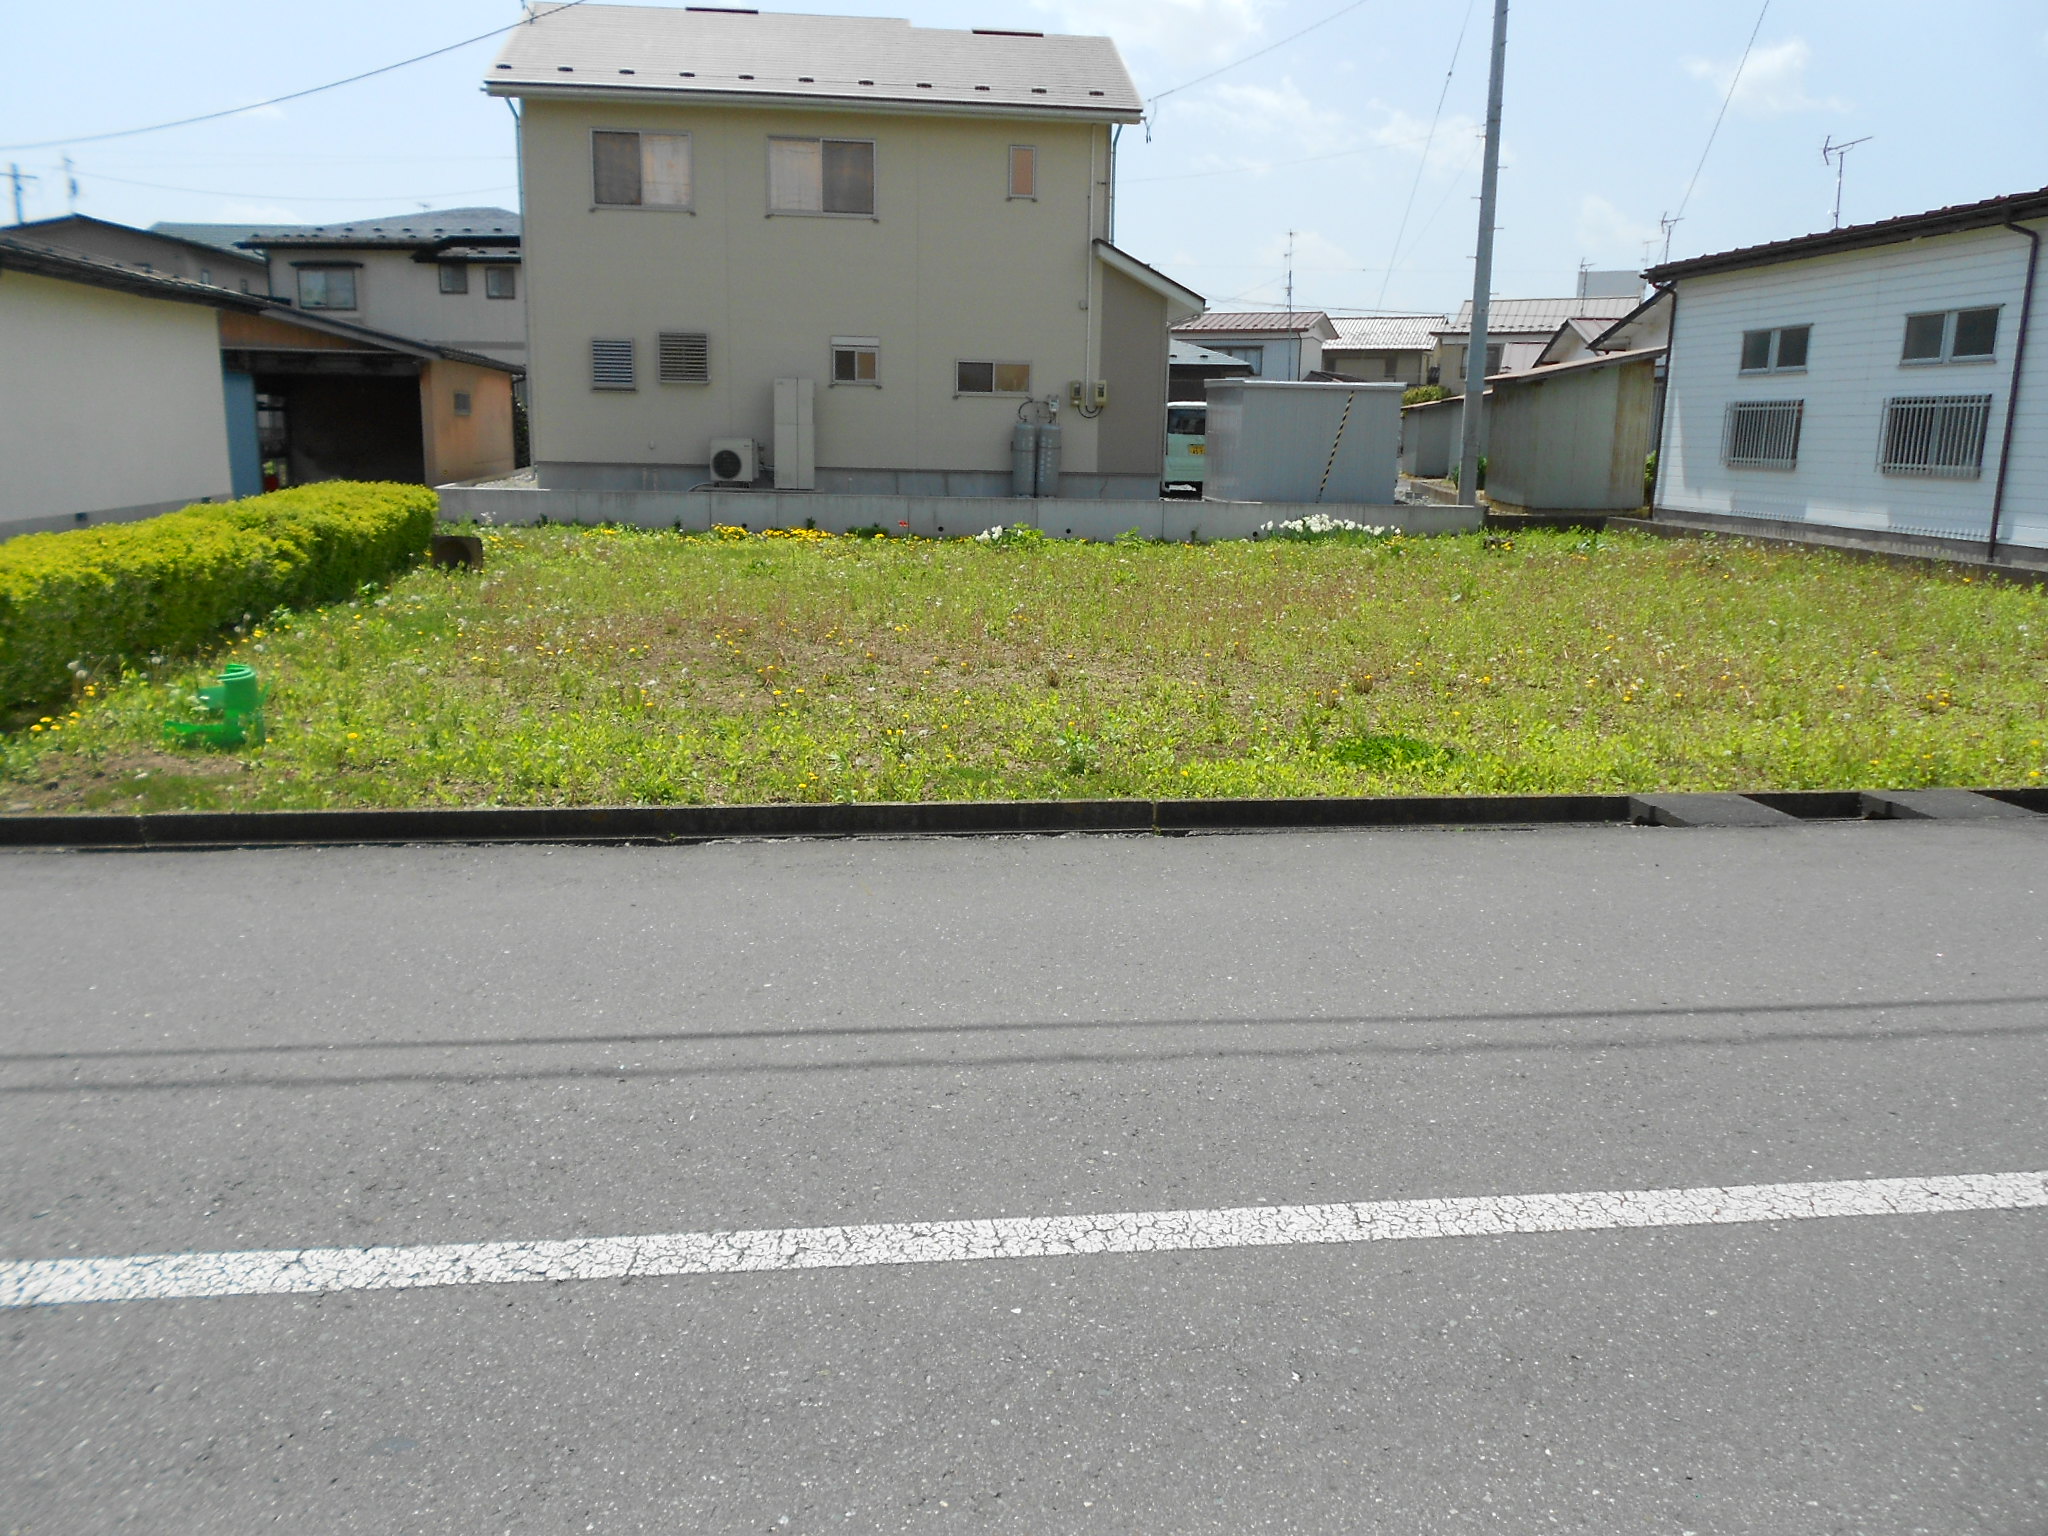
[[418,559],[440,500],[424,485],[324,481],[143,522],[0,543],[0,705],[47,698],[242,618],[346,598]]

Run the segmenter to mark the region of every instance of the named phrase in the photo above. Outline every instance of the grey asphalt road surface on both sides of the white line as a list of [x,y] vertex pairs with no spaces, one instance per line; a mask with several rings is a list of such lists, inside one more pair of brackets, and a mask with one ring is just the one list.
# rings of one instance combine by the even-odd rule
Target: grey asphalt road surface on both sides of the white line
[[[0,1257],[2048,1167],[2042,825],[0,856]],[[2048,1210],[0,1313],[0,1532],[2048,1532]]]

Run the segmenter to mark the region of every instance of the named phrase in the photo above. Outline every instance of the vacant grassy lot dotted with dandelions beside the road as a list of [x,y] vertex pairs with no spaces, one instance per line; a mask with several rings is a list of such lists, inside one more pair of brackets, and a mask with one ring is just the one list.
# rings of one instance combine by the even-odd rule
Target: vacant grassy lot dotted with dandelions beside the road
[[[485,532],[0,737],[6,809],[2030,784],[2040,590],[1741,543]],[[223,659],[270,739],[170,750]]]

